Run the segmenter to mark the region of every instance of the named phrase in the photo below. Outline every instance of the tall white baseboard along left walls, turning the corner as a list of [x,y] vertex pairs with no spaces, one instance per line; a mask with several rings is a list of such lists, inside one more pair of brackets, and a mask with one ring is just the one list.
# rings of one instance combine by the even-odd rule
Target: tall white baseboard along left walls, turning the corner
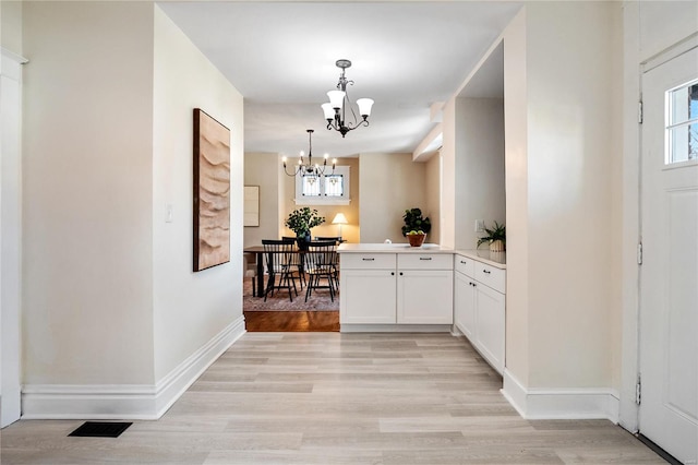
[[244,332],[240,317],[155,385],[24,385],[22,419],[158,419]]

